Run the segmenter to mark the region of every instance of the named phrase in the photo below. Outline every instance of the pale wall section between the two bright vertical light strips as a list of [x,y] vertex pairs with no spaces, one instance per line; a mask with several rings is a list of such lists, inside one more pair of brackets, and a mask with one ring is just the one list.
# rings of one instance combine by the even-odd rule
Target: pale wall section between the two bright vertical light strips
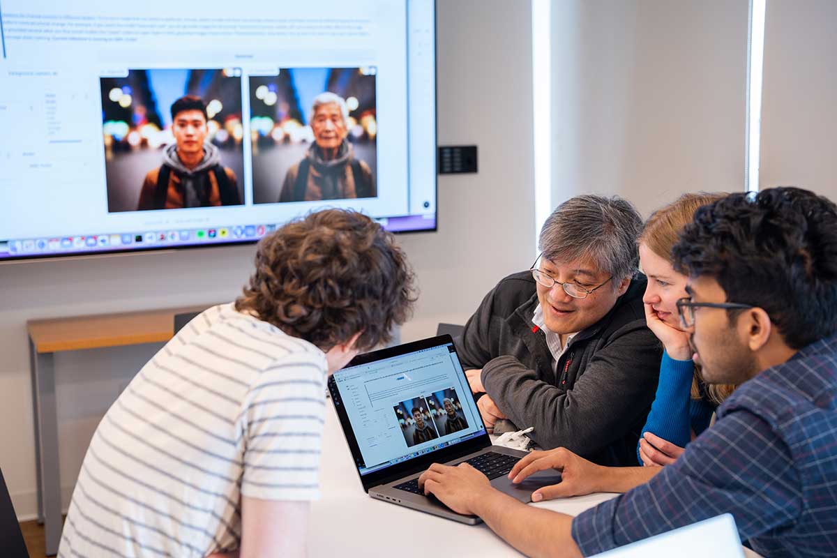
[[[768,8],[769,9],[769,8]],[[552,3],[553,200],[741,191],[748,0]]]

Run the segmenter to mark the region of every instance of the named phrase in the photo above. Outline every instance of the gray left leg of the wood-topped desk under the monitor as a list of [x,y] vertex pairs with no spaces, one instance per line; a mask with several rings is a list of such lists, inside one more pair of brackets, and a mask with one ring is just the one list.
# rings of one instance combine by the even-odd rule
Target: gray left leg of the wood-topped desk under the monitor
[[38,460],[39,519],[44,520],[46,554],[58,554],[61,541],[61,480],[58,461],[58,416],[52,353],[39,353],[29,340],[33,361],[35,458]]

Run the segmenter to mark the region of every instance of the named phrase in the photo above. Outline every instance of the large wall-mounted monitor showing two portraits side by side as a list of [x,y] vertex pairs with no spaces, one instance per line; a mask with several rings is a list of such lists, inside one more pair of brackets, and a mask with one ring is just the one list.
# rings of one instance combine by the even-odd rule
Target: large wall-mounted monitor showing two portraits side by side
[[0,3],[0,262],[436,228],[434,0]]

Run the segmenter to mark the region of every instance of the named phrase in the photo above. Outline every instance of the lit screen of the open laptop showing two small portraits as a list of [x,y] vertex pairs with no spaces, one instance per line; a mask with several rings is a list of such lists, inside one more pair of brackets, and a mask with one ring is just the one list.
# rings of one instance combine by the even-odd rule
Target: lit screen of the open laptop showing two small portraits
[[449,341],[349,366],[333,381],[335,405],[344,407],[357,440],[361,476],[485,435]]

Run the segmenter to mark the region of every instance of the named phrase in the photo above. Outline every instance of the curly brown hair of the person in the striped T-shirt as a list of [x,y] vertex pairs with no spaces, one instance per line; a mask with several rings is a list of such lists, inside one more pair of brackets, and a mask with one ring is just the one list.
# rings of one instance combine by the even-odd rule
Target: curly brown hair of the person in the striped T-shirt
[[261,240],[255,264],[236,310],[324,351],[357,333],[361,351],[388,342],[416,300],[413,270],[393,235],[359,212],[295,219]]

